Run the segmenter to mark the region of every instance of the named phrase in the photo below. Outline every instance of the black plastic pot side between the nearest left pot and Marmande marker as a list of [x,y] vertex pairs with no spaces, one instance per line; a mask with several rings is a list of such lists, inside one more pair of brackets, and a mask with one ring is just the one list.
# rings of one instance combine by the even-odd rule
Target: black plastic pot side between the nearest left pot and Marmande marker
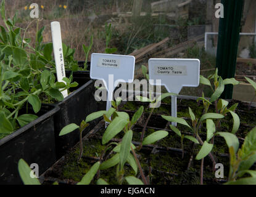
[[[98,110],[102,110],[104,105],[96,102],[94,98],[94,81],[89,79],[83,86],[76,89],[68,95],[62,102],[57,103],[60,110],[54,116],[54,130],[56,136],[56,155],[57,158],[65,155],[67,150],[73,147],[79,141],[79,131],[73,131],[70,134],[59,136],[61,129],[68,124],[75,123],[78,126],[87,115]],[[90,123],[83,135],[86,134],[94,123]]]

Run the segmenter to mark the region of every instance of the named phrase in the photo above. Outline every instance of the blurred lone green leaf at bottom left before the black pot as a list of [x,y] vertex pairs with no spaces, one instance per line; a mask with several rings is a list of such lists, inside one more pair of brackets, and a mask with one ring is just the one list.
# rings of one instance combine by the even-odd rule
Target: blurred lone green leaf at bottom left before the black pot
[[41,185],[38,179],[32,178],[30,176],[33,171],[31,171],[30,166],[28,166],[28,164],[23,159],[19,160],[18,170],[24,185]]

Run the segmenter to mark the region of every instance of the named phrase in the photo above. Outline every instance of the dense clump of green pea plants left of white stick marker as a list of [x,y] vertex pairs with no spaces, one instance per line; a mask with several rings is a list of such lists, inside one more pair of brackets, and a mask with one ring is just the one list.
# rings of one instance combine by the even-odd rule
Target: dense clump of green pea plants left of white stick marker
[[[77,86],[70,79],[56,82],[52,70],[52,44],[43,44],[44,27],[36,32],[35,49],[26,31],[15,26],[17,20],[6,19],[5,1],[1,1],[1,17],[6,28],[0,26],[0,139],[38,118],[28,114],[28,104],[34,113],[41,109],[42,102],[63,100],[61,91]],[[38,20],[33,20],[37,21]],[[31,22],[32,23],[32,22]],[[56,71],[55,71],[56,72]],[[27,113],[20,110],[26,108]]]

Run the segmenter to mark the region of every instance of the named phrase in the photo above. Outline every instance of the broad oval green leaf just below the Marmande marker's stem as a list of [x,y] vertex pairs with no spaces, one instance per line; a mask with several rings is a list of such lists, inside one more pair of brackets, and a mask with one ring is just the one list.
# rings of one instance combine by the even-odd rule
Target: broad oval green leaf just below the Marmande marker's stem
[[116,117],[112,123],[109,124],[102,137],[102,144],[109,142],[115,135],[117,135],[123,128],[128,124],[129,121],[126,119]]

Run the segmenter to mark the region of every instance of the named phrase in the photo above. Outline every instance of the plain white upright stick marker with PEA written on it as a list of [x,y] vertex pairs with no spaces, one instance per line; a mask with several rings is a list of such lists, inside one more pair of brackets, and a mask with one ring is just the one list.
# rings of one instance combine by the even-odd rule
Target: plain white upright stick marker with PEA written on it
[[[62,79],[65,78],[65,66],[64,66],[64,55],[62,50],[62,39],[60,32],[60,23],[59,22],[51,22],[51,31],[52,31],[52,44],[54,50],[54,59],[56,64],[56,73],[57,73],[57,81],[65,82]],[[66,82],[65,82],[66,83]],[[68,91],[64,90],[61,92],[63,97],[68,96]]]

